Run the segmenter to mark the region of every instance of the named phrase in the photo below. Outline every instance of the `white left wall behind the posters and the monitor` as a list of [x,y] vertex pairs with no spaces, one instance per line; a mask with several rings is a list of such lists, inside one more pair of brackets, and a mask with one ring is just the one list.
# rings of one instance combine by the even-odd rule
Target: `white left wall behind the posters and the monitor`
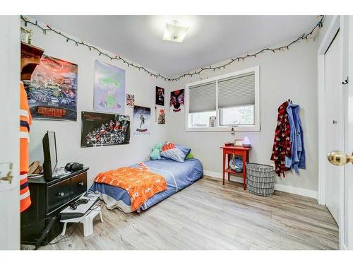
[[[155,143],[165,140],[165,125],[155,123],[155,86],[165,87],[160,79],[151,78],[143,71],[127,67],[120,62],[110,61],[106,57],[91,52],[87,47],[76,47],[59,35],[47,33],[28,25],[34,31],[32,44],[44,49],[44,54],[78,64],[78,119],[77,122],[33,121],[30,129],[30,161],[43,162],[42,137],[47,130],[56,132],[56,146],[59,165],[75,161],[90,167],[88,184],[98,172],[116,167],[131,165],[146,160]],[[85,41],[85,40],[83,40]],[[92,44],[94,45],[94,44]],[[151,108],[151,134],[133,135],[131,130],[130,144],[120,146],[103,146],[97,148],[80,148],[81,111],[93,110],[93,78],[95,59],[118,66],[126,71],[126,93],[135,95],[135,104]],[[131,117],[133,109],[126,108]]]

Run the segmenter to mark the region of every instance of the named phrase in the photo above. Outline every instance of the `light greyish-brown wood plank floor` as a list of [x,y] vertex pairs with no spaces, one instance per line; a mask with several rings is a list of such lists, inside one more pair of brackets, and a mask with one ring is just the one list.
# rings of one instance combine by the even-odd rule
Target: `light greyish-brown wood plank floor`
[[255,196],[211,177],[144,213],[104,208],[103,218],[89,237],[72,225],[71,237],[40,249],[338,249],[335,220],[315,199]]

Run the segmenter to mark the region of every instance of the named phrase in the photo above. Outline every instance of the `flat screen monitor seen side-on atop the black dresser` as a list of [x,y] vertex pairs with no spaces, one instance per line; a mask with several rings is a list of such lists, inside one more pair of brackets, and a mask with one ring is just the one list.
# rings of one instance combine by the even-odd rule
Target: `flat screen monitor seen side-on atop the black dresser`
[[43,137],[43,153],[44,153],[44,178],[47,180],[53,179],[53,175],[58,163],[56,154],[56,138],[55,131],[47,131]]

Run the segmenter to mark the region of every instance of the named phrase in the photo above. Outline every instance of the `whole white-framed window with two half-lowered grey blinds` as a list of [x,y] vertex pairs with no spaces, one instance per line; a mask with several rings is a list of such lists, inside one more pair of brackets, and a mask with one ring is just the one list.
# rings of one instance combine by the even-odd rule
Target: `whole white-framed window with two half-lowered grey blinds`
[[258,66],[186,86],[186,130],[259,131]]

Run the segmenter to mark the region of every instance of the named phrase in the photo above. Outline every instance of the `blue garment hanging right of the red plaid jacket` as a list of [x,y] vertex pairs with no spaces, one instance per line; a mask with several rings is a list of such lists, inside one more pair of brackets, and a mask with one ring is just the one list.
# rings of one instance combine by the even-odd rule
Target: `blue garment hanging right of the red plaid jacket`
[[299,105],[289,103],[287,114],[290,127],[290,141],[292,146],[292,157],[286,157],[286,167],[294,168],[299,174],[299,168],[305,169],[304,136],[299,117]]

